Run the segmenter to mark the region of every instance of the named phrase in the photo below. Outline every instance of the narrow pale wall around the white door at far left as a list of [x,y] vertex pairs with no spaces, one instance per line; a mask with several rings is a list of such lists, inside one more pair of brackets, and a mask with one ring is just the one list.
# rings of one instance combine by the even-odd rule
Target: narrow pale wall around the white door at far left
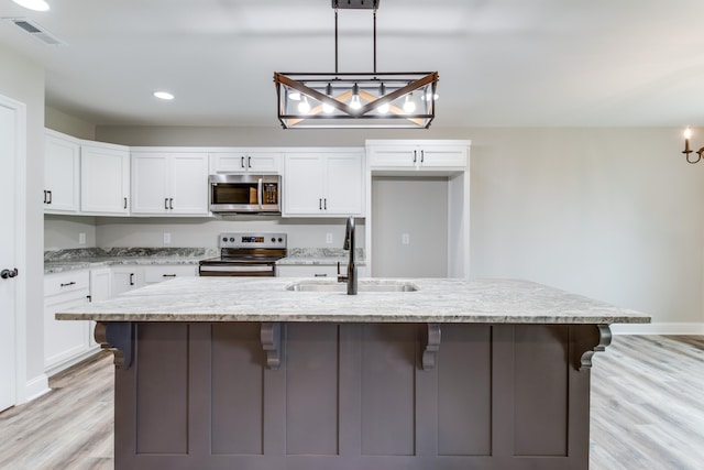
[[[26,338],[25,371],[28,393],[41,392],[46,385],[44,376],[44,327],[43,327],[43,204],[44,185],[44,70],[26,58],[14,55],[0,45],[0,95],[26,105],[26,181],[18,182],[25,188],[26,197],[26,253],[20,264],[20,275],[26,282],[23,299]],[[3,227],[3,229],[6,229]],[[28,396],[23,397],[28,398]],[[22,400],[22,397],[21,397]]]

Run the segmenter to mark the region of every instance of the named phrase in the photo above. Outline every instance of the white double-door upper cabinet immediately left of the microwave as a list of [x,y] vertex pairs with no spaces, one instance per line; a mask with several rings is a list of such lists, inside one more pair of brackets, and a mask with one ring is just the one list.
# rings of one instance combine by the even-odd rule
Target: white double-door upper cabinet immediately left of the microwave
[[132,152],[132,214],[207,216],[208,154]]

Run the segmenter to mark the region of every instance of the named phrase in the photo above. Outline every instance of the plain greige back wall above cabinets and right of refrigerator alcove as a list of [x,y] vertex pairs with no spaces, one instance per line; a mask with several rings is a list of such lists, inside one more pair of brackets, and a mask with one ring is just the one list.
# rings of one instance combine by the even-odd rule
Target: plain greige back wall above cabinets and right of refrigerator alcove
[[684,162],[681,131],[98,127],[96,136],[133,145],[470,139],[473,277],[528,278],[644,310],[656,321],[702,323],[704,164]]

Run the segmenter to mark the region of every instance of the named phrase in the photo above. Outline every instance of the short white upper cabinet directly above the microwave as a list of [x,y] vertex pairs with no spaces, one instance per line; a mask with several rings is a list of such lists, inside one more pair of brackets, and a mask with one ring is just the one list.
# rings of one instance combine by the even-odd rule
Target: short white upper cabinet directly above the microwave
[[210,153],[210,174],[217,173],[253,173],[277,175],[282,170],[284,154],[280,151],[229,150]]

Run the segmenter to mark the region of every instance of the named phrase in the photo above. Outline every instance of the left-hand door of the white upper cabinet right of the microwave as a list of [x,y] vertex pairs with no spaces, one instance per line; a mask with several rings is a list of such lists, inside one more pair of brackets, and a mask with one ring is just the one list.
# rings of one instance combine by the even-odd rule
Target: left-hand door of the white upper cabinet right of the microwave
[[323,210],[322,155],[289,154],[284,165],[284,215],[320,215]]

